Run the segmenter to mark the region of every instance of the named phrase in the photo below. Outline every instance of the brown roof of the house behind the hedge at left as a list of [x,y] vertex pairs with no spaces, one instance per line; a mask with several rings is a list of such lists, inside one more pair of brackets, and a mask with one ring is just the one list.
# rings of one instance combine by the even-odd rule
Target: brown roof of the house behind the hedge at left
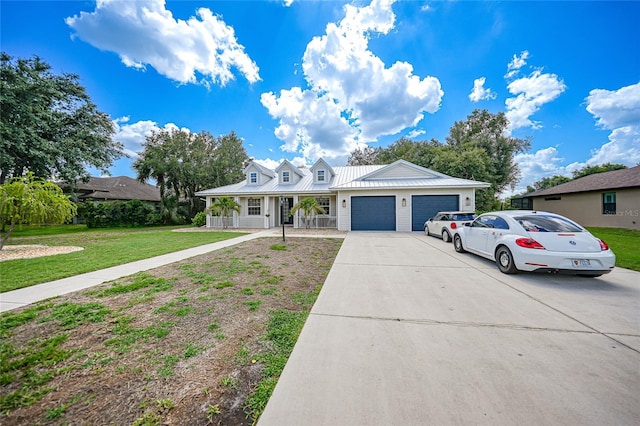
[[127,176],[92,177],[77,182],[75,188],[66,182],[58,183],[63,190],[80,194],[81,199],[141,200],[160,202],[160,189]]

